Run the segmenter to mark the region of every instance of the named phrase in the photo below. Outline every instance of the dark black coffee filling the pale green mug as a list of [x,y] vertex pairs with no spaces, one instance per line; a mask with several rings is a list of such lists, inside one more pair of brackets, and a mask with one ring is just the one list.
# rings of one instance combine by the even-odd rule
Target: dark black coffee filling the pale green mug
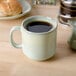
[[35,33],[41,33],[41,32],[47,32],[50,29],[52,29],[52,25],[48,22],[43,21],[34,21],[27,24],[25,27],[28,31],[35,32]]

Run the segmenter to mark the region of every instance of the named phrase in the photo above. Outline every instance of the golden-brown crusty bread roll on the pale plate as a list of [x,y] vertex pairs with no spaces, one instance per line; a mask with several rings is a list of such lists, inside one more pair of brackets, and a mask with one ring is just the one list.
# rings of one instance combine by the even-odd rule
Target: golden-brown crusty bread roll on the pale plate
[[0,0],[0,16],[13,16],[22,12],[22,6],[17,0]]

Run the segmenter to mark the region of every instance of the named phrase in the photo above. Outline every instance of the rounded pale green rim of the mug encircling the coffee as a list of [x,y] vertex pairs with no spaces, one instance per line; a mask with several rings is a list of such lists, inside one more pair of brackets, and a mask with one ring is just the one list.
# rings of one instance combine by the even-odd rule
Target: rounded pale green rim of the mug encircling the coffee
[[[31,32],[31,31],[28,31],[26,28],[24,28],[24,22],[28,21],[29,19],[33,19],[33,18],[46,18],[47,20],[51,20],[51,21],[54,21],[55,23],[51,23],[50,21],[46,21],[46,22],[49,22],[50,24],[52,24],[52,28],[47,31],[47,32],[40,32],[40,33],[37,33],[37,32]],[[35,20],[35,21],[38,21],[38,20]],[[44,21],[44,20],[42,20]],[[27,24],[26,24],[27,25]],[[55,25],[55,26],[54,26]],[[23,20],[22,24],[21,24],[21,27],[22,29],[27,32],[27,33],[31,33],[31,34],[47,34],[47,33],[51,33],[53,32],[58,26],[58,20],[57,19],[52,19],[50,17],[46,17],[46,16],[41,16],[41,15],[35,15],[35,16],[31,16],[31,17],[28,17],[26,19]]]

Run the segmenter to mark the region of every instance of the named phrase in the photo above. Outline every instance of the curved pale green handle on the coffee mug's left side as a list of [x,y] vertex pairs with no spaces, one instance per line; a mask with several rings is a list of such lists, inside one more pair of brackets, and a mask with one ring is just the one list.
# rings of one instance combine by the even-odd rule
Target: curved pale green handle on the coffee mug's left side
[[11,31],[10,31],[10,43],[13,47],[15,48],[22,48],[22,45],[21,44],[17,44],[15,43],[15,41],[13,40],[13,33],[15,31],[20,31],[20,26],[14,26]]

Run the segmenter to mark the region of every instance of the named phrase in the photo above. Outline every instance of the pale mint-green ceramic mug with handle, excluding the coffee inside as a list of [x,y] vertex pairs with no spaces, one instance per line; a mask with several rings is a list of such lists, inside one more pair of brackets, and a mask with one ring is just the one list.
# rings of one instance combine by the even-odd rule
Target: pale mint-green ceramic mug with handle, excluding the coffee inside
[[[52,29],[47,32],[35,33],[24,28],[32,21],[45,21],[52,24]],[[21,31],[22,44],[13,40],[13,32]],[[56,51],[57,20],[44,16],[32,16],[25,19],[21,26],[14,26],[10,31],[10,41],[15,48],[22,48],[23,53],[33,60],[46,60],[54,56]]]

